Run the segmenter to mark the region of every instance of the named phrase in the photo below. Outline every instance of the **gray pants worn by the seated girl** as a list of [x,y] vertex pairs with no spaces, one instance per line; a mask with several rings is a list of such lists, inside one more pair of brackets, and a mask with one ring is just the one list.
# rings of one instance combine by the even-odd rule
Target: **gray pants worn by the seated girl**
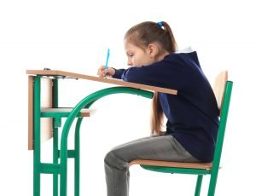
[[129,195],[129,167],[134,159],[199,162],[172,135],[151,136],[114,147],[105,157],[108,196]]

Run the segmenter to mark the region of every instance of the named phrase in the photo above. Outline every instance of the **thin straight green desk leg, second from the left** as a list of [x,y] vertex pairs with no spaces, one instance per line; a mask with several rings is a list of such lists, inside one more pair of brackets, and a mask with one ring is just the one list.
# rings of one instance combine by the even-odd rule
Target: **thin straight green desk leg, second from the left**
[[[53,107],[58,107],[58,79],[53,79]],[[55,128],[55,119],[53,119],[53,163],[58,164],[59,160],[59,130]],[[53,196],[58,196],[59,192],[59,175],[53,175]]]

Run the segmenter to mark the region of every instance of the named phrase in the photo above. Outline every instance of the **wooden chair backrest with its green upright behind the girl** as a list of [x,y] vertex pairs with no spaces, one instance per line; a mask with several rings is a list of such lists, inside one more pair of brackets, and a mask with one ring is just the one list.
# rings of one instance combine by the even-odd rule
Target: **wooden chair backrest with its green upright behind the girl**
[[216,95],[218,102],[219,114],[219,125],[218,125],[218,136],[216,141],[216,147],[214,152],[214,158],[212,162],[212,171],[218,170],[219,162],[222,153],[222,147],[224,142],[225,128],[228,118],[228,112],[230,108],[230,98],[232,92],[233,82],[228,81],[228,72],[221,72],[218,74],[213,91]]

